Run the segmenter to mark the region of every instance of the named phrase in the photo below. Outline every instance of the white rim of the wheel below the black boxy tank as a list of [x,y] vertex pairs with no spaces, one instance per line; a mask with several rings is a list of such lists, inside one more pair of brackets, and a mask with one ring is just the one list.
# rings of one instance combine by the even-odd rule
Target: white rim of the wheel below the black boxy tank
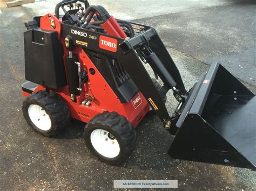
[[31,122],[40,130],[48,131],[51,129],[51,119],[45,110],[36,104],[29,105],[29,118]]

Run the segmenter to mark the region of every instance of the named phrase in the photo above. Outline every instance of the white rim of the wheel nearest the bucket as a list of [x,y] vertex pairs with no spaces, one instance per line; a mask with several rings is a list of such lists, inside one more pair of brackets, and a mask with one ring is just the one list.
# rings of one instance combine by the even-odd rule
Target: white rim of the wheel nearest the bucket
[[92,131],[91,143],[99,154],[107,158],[114,158],[120,152],[117,139],[109,131],[103,129]]

